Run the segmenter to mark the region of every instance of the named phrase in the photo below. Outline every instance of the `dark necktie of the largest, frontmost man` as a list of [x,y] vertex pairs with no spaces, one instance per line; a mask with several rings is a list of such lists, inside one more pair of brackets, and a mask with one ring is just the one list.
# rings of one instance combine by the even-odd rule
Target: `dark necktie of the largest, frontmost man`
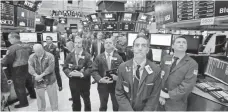
[[134,77],[134,84],[133,84],[133,98],[135,99],[137,96],[137,90],[138,90],[138,85],[140,81],[140,72],[139,72],[140,65],[137,65],[137,70],[135,72],[135,77]]

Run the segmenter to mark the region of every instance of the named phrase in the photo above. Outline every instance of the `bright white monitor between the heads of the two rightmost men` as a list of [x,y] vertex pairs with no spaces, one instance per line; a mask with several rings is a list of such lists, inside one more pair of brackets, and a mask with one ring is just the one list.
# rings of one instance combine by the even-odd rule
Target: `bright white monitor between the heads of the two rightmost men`
[[150,34],[150,44],[157,46],[171,46],[172,34]]

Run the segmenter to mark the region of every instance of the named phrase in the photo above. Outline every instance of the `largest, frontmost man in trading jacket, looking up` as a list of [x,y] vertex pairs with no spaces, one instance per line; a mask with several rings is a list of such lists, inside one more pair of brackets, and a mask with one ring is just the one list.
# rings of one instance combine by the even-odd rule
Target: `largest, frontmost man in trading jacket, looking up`
[[133,43],[133,59],[118,69],[116,98],[119,111],[154,111],[161,90],[160,68],[146,58],[149,41],[139,36]]

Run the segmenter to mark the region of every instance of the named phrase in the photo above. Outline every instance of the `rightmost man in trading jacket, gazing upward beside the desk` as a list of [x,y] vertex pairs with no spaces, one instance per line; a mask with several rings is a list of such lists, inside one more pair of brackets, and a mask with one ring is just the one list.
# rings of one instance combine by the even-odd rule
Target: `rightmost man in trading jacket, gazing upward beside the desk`
[[162,91],[160,110],[186,111],[187,98],[198,74],[198,64],[186,54],[187,40],[177,37],[173,42],[173,56],[164,56],[161,62]]

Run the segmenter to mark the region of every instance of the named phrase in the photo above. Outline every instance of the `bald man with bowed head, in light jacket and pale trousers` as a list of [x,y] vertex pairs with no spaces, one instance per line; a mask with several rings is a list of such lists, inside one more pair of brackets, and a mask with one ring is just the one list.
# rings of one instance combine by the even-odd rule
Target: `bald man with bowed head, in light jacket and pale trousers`
[[45,111],[45,91],[48,93],[52,111],[58,110],[58,95],[55,76],[55,58],[46,52],[41,44],[33,46],[34,53],[29,56],[29,73],[34,77],[38,111]]

